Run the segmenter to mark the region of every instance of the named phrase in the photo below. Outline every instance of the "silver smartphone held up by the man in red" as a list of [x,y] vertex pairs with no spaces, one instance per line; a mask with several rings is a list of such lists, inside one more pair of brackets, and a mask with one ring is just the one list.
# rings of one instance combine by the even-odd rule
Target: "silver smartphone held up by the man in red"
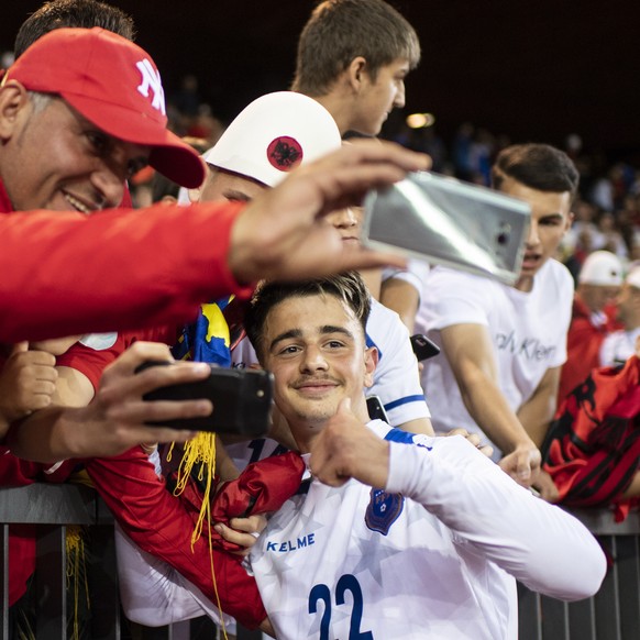
[[522,200],[429,172],[365,199],[363,242],[514,284],[531,209]]

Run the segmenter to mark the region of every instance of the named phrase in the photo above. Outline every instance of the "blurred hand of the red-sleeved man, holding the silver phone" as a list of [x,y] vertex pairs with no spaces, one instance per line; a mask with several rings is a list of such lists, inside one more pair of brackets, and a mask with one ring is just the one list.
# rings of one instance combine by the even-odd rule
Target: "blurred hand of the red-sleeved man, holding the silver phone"
[[393,143],[363,141],[296,169],[253,200],[231,234],[229,265],[239,282],[305,279],[385,264],[404,266],[393,254],[346,247],[323,217],[362,203],[368,189],[426,169],[428,156]]

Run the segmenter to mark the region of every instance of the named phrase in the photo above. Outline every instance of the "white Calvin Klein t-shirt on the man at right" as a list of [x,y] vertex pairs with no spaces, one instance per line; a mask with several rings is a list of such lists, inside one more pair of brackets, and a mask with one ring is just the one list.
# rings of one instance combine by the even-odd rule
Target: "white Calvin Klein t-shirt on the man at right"
[[[489,278],[435,267],[427,279],[416,324],[439,345],[440,329],[463,323],[487,327],[498,386],[517,411],[547,369],[566,360],[572,301],[573,279],[566,267],[554,260],[536,274],[529,293]],[[482,433],[464,407],[444,354],[424,363],[422,386],[438,431],[464,427]]]

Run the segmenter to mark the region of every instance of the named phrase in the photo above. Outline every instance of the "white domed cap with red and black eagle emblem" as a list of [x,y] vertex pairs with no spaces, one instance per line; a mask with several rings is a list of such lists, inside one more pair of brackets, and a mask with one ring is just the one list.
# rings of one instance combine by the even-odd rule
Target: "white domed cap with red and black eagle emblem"
[[338,125],[322,104],[301,93],[277,91],[249,104],[203,158],[275,187],[288,172],[336,151],[341,142]]

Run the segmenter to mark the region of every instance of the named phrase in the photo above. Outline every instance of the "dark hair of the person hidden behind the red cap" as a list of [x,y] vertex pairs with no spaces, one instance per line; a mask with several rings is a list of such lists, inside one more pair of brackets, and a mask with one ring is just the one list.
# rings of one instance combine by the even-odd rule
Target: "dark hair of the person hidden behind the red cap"
[[15,57],[20,57],[45,33],[66,26],[78,29],[100,26],[126,40],[135,38],[133,18],[117,7],[98,0],[51,0],[22,23],[13,47]]

